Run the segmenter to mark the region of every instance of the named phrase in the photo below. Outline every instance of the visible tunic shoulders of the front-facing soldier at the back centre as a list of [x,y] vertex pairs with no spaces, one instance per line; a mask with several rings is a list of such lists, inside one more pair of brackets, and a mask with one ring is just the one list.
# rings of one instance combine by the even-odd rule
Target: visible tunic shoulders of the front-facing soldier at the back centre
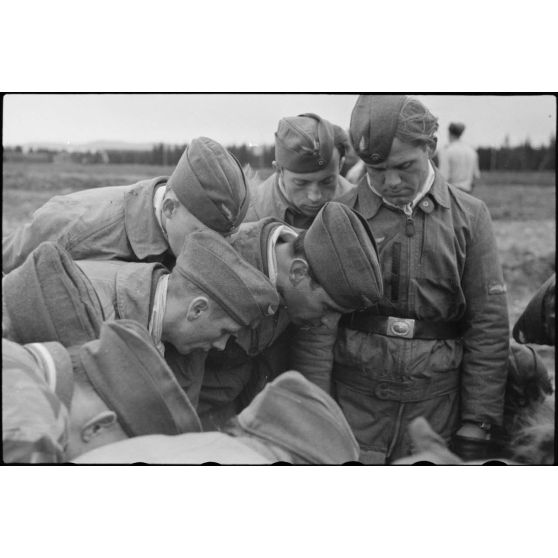
[[[340,176],[332,201],[338,201],[338,198],[354,188],[354,184]],[[301,229],[307,229],[314,220],[314,217],[302,215],[287,200],[279,187],[279,175],[276,172],[261,184],[250,184],[250,205],[244,222],[259,221],[264,217],[275,217]]]

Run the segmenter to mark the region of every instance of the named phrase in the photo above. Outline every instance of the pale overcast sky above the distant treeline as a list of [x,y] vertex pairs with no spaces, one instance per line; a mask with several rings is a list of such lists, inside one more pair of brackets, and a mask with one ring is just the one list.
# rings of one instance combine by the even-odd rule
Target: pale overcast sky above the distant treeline
[[[540,96],[419,95],[447,126],[461,121],[470,144],[547,143],[556,130],[556,100]],[[345,128],[356,95],[6,95],[3,143],[131,141],[186,143],[205,135],[224,144],[272,143],[283,116],[315,112]]]

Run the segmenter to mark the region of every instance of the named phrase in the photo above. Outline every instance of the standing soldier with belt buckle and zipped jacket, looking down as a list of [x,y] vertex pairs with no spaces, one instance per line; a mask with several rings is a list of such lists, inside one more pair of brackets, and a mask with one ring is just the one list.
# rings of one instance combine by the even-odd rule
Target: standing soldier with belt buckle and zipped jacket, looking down
[[433,167],[437,128],[406,95],[362,95],[351,116],[366,175],[341,201],[378,242],[383,296],[341,319],[333,384],[363,462],[408,454],[417,416],[467,459],[502,424],[509,325],[496,241],[486,205]]

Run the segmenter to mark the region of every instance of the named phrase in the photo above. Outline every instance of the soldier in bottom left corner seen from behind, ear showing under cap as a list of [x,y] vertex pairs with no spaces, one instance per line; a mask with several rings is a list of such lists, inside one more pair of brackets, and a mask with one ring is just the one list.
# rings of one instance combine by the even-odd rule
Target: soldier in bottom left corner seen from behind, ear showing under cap
[[199,432],[199,419],[147,330],[106,322],[98,340],[2,341],[2,458],[62,463],[146,434]]

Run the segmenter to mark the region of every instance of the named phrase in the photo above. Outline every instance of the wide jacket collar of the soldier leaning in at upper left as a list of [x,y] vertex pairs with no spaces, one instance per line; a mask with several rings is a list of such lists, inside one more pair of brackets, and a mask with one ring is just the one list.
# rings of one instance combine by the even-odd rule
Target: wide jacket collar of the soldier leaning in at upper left
[[169,249],[153,208],[155,189],[167,180],[166,176],[142,180],[126,193],[124,226],[138,260],[159,256]]

